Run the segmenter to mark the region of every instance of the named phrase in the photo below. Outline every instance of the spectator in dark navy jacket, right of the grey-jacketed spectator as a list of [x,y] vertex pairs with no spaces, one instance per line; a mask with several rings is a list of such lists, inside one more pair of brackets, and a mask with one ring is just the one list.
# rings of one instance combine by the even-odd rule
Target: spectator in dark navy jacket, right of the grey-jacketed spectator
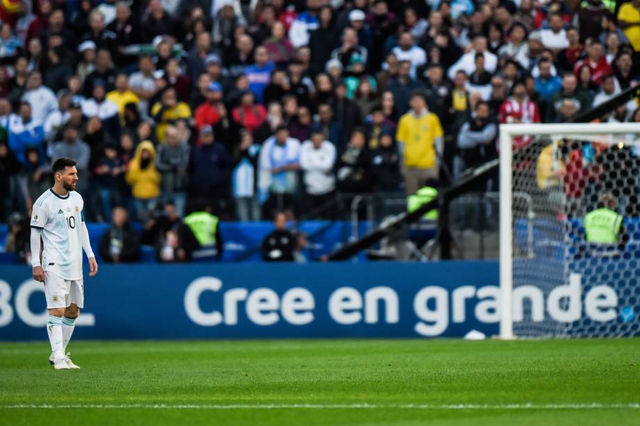
[[200,129],[200,145],[192,151],[191,167],[195,193],[219,214],[229,199],[227,184],[233,160],[227,149],[216,142],[211,126],[205,125]]

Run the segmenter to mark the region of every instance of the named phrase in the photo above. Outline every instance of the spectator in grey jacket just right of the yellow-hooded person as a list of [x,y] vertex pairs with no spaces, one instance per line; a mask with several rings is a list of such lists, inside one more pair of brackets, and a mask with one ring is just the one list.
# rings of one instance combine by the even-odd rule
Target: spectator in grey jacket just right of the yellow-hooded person
[[162,202],[173,202],[179,216],[184,216],[190,147],[179,137],[174,126],[166,129],[165,143],[159,145],[156,168],[161,174]]

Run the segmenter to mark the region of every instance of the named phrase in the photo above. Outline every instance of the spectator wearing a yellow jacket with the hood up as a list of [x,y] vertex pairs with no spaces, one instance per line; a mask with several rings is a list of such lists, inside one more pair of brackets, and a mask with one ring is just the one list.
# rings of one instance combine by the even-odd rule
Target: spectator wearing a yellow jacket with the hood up
[[160,195],[160,174],[155,165],[156,150],[149,140],[143,140],[129,162],[125,179],[134,196],[136,217],[145,220]]

